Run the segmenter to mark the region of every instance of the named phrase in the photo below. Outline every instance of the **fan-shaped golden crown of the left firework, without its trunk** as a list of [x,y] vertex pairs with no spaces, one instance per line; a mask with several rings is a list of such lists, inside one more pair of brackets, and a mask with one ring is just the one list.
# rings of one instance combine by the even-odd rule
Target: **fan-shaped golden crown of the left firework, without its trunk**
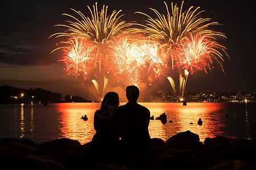
[[63,33],[55,33],[52,36],[61,37],[82,37],[85,40],[89,40],[93,44],[106,45],[111,36],[118,36],[124,32],[124,28],[128,27],[125,21],[120,18],[123,15],[119,15],[122,10],[113,11],[111,15],[108,15],[108,6],[103,5],[101,11],[98,11],[97,2],[93,5],[93,11],[89,6],[91,18],[84,16],[82,12],[75,11],[82,20],[75,18],[75,16],[69,14],[63,14],[75,19],[76,22],[66,21],[68,24],[57,24],[55,26],[67,27],[68,29]]

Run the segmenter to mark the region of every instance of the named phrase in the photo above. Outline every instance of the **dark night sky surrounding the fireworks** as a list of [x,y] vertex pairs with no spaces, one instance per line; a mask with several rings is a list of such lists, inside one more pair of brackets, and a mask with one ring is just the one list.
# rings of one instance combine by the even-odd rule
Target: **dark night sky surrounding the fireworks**
[[[57,62],[61,54],[50,54],[56,48],[56,39],[48,39],[53,33],[65,28],[53,27],[64,23],[63,13],[74,14],[69,8],[89,15],[87,6],[96,1],[2,1],[0,6],[0,86],[18,88],[45,88],[62,95],[86,95],[93,92],[92,83],[82,86],[81,79],[67,76],[63,63]],[[164,1],[98,1],[109,11],[120,10],[124,20],[140,22],[143,16],[134,14],[142,11],[152,14],[155,8],[166,14]],[[166,1],[179,6],[181,1]],[[255,8],[253,1],[185,1],[184,9],[200,6],[205,17],[223,25],[214,27],[224,32],[228,39],[222,44],[231,58],[225,58],[224,70],[214,69],[211,73],[196,71],[189,76],[186,91],[256,91],[255,71]],[[55,63],[55,65],[52,65]],[[154,89],[169,89],[167,80],[157,83]]]

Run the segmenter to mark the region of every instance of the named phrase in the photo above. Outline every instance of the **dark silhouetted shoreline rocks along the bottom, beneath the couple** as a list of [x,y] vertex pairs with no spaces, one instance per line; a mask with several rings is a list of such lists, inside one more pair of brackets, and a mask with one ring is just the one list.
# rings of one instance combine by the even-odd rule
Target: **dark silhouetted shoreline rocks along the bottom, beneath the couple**
[[61,138],[40,145],[28,140],[0,139],[1,169],[256,169],[256,146],[214,137],[199,141],[191,131],[150,148],[89,150],[88,144]]

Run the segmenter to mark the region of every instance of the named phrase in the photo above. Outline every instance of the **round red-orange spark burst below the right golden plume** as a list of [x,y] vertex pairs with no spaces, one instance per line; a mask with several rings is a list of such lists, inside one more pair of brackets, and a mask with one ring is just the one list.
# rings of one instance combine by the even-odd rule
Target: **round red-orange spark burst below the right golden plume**
[[[190,33],[189,37],[175,44],[174,49],[174,67],[181,67],[188,71],[211,69],[213,60],[217,61],[222,67],[222,57],[220,52],[214,49],[209,39],[205,36],[193,36]],[[223,69],[222,69],[223,70]]]

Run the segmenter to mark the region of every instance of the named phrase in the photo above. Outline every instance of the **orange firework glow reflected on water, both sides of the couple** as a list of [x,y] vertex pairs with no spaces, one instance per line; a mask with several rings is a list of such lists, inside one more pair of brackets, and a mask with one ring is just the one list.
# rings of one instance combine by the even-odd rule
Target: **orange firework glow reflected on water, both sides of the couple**
[[[121,103],[123,105],[125,103]],[[219,113],[221,104],[216,103],[140,103],[150,110],[151,116],[155,118],[162,113],[167,114],[167,123],[162,124],[160,120],[150,120],[148,130],[151,138],[161,138],[166,141],[173,135],[190,130],[200,137],[204,142],[207,137],[225,135],[222,128],[229,126],[225,122],[224,115]],[[94,112],[100,108],[100,103],[64,103],[57,104],[59,117],[60,138],[70,138],[79,141],[81,144],[90,142],[96,133],[93,127]],[[88,117],[87,121],[81,116]],[[201,118],[203,125],[198,125],[197,121]],[[168,121],[172,121],[168,122]],[[190,124],[192,123],[192,124]],[[229,136],[230,137],[230,136]]]

